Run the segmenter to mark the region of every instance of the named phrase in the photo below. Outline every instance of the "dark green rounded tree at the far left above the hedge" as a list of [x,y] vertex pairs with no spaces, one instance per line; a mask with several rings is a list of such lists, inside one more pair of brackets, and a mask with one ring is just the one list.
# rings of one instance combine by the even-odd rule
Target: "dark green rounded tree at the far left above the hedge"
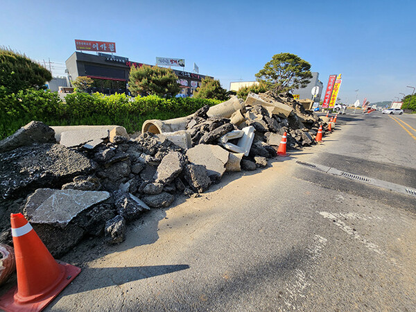
[[26,55],[0,48],[0,86],[6,87],[7,92],[45,89],[46,81],[51,79],[50,71],[26,58]]

